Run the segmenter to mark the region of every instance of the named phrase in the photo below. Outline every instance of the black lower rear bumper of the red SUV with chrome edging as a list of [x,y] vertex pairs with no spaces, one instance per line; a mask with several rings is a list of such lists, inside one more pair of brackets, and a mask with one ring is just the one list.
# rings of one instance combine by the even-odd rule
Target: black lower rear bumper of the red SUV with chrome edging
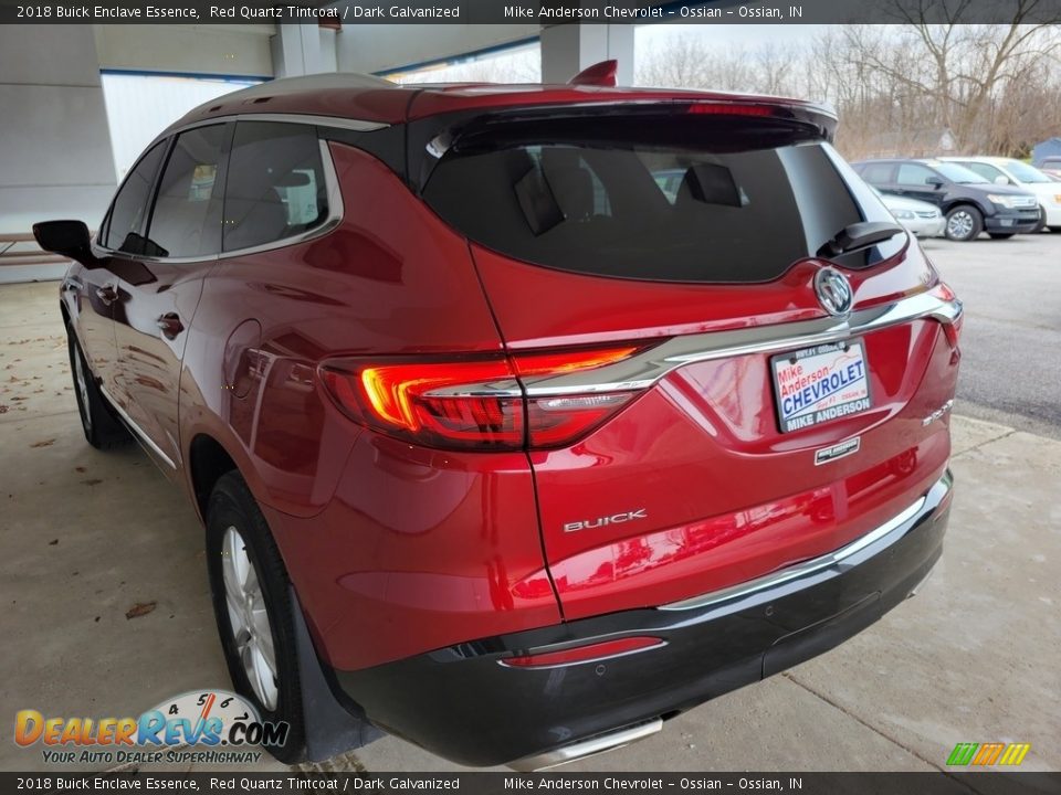
[[[842,550],[750,583],[335,671],[335,680],[380,728],[470,765],[510,763],[669,718],[821,654],[905,600],[942,553],[950,486],[946,473],[899,517]],[[664,644],[575,665],[505,665],[631,636]]]

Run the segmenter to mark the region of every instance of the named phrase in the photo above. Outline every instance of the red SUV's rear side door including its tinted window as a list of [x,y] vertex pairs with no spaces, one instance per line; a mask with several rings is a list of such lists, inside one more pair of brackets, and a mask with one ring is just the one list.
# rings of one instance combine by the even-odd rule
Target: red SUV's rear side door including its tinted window
[[175,137],[155,190],[145,254],[119,273],[115,333],[125,411],[167,473],[181,460],[177,402],[187,329],[221,251],[231,129],[209,125]]

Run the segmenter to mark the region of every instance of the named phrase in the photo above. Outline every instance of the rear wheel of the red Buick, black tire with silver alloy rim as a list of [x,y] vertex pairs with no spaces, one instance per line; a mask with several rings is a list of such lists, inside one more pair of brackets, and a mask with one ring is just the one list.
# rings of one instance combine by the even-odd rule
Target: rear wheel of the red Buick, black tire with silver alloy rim
[[263,721],[290,725],[286,742],[265,750],[281,762],[301,762],[305,721],[287,571],[265,517],[234,470],[218,480],[207,506],[207,568],[232,685]]

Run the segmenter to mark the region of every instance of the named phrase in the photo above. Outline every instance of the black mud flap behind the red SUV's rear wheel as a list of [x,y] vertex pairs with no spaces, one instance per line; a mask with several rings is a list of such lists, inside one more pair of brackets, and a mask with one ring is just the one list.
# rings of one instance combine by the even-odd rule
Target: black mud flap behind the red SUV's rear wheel
[[306,730],[305,761],[323,762],[345,751],[364,748],[384,736],[384,732],[368,722],[360,708],[354,708],[358,713],[353,713],[335,697],[309,637],[302,605],[295,590],[290,591]]

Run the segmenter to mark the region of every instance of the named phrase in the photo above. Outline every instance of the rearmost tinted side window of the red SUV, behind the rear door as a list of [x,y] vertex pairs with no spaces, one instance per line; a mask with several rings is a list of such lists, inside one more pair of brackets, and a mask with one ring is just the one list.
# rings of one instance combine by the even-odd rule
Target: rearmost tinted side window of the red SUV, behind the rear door
[[224,192],[224,251],[302,234],[327,215],[316,130],[277,121],[238,123]]

